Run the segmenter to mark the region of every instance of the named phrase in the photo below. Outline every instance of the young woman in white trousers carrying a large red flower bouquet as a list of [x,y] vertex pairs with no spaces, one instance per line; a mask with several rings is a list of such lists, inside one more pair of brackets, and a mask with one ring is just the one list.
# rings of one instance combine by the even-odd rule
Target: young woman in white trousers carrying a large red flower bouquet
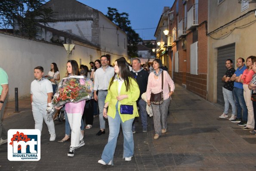
[[67,73],[68,78],[62,79],[64,80],[62,84],[65,86],[58,89],[57,96],[53,98],[53,101],[62,100],[64,103],[65,100],[68,101],[68,103],[65,103],[65,111],[71,128],[71,145],[68,156],[73,157],[75,148],[79,148],[80,142],[83,142],[83,134],[80,131],[81,119],[85,100],[90,98],[92,94],[93,82],[90,79],[84,79],[84,76],[80,76],[77,61],[68,61]]

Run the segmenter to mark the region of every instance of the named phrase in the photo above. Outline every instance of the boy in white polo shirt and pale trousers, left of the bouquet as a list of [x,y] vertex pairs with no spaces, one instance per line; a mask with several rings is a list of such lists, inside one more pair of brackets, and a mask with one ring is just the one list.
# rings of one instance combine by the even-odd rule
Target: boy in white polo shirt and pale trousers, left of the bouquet
[[34,68],[35,80],[31,82],[31,104],[35,121],[35,129],[42,132],[43,120],[51,135],[50,141],[56,138],[53,119],[47,120],[47,104],[52,101],[52,83],[43,77],[43,67]]

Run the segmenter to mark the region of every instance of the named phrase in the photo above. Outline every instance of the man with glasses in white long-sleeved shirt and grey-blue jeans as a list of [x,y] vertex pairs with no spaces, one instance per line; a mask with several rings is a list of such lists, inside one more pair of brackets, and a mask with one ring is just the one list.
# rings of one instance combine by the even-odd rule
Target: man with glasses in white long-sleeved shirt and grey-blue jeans
[[[103,117],[103,108],[108,94],[108,84],[114,76],[114,68],[109,66],[110,55],[102,55],[100,61],[102,67],[96,70],[94,75],[94,100],[99,104],[99,125],[100,130],[96,135],[105,134],[105,119]],[[98,95],[96,94],[99,90]]]

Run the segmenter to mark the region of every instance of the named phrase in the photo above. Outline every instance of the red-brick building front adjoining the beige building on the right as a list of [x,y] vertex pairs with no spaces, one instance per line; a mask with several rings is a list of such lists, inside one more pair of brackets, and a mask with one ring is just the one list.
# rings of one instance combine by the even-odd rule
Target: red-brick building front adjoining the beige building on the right
[[[177,0],[176,0],[177,1]],[[176,1],[175,5],[172,7],[172,10],[176,10]],[[188,0],[187,10],[193,6],[194,0]],[[186,49],[182,49],[182,40],[179,40],[176,44],[173,44],[173,56],[177,49],[179,51],[179,72],[176,73],[173,71],[173,81],[179,85],[185,84],[186,88],[196,95],[206,99],[207,98],[207,36],[206,36],[206,23],[207,21],[207,0],[198,0],[198,24],[199,26],[195,29],[198,31],[198,75],[190,74],[190,45],[192,42],[192,31],[188,31],[186,35]],[[176,12],[175,12],[176,13]],[[184,15],[182,1],[179,1],[179,19]],[[176,25],[176,21],[172,24],[172,28]],[[171,53],[169,52],[171,57]],[[173,58],[174,59],[174,58]],[[172,62],[171,58],[169,60],[170,75],[172,73]],[[175,68],[173,68],[174,70]]]

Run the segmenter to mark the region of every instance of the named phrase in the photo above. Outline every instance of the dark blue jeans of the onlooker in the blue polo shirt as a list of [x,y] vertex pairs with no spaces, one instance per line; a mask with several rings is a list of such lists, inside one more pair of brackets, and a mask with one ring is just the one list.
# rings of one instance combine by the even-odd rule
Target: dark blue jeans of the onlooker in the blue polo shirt
[[[248,110],[244,101],[244,89],[239,89],[234,87],[233,89],[234,95],[234,103],[237,107],[237,118],[242,119],[243,121],[247,121]],[[243,118],[242,118],[242,110],[243,110]]]

